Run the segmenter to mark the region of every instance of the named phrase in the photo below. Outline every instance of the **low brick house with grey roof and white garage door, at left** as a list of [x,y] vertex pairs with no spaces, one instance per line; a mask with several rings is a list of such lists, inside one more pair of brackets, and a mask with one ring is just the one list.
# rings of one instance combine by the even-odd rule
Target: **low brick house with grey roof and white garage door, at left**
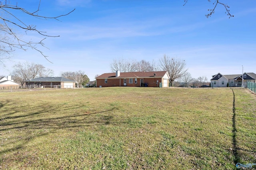
[[38,77],[26,80],[26,87],[75,88],[76,81],[65,77]]

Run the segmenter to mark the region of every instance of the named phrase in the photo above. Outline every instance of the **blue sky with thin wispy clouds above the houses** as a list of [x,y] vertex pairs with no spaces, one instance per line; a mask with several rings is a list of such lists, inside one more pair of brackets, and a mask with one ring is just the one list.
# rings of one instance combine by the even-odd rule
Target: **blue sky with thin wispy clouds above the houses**
[[[39,0],[17,1],[28,11],[38,8]],[[220,0],[230,6],[233,18],[228,18],[223,6],[209,18],[208,0],[42,0],[40,15],[68,16],[56,20],[38,20],[19,15],[27,24],[36,25],[48,35],[48,62],[35,50],[16,50],[0,74],[8,75],[12,65],[30,61],[54,70],[84,71],[90,80],[108,73],[113,59],[128,58],[158,62],[163,55],[184,59],[193,78],[212,75],[256,73],[256,1]],[[15,29],[15,28],[14,28]],[[41,40],[38,34],[26,40]]]

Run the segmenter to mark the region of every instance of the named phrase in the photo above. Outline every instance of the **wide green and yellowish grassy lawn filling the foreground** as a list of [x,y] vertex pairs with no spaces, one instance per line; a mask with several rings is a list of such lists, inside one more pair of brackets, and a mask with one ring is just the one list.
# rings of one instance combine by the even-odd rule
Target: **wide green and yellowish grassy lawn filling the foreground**
[[245,89],[0,93],[0,169],[235,169],[255,127]]

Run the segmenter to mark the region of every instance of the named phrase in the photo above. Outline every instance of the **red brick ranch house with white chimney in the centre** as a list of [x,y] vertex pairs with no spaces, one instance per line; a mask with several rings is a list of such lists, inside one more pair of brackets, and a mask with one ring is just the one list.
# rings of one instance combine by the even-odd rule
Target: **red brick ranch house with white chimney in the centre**
[[169,87],[167,71],[104,73],[96,77],[96,87]]

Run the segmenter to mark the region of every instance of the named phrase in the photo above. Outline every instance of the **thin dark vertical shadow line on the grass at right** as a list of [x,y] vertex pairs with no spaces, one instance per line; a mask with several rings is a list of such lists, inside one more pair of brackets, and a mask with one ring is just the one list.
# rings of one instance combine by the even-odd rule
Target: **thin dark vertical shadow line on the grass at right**
[[235,156],[234,159],[234,163],[237,164],[238,162],[240,162],[240,156],[238,154],[238,146],[237,146],[237,140],[236,140],[236,107],[235,107],[235,93],[234,90],[232,89],[233,92],[233,118],[232,118],[232,122],[233,122],[233,154]]

